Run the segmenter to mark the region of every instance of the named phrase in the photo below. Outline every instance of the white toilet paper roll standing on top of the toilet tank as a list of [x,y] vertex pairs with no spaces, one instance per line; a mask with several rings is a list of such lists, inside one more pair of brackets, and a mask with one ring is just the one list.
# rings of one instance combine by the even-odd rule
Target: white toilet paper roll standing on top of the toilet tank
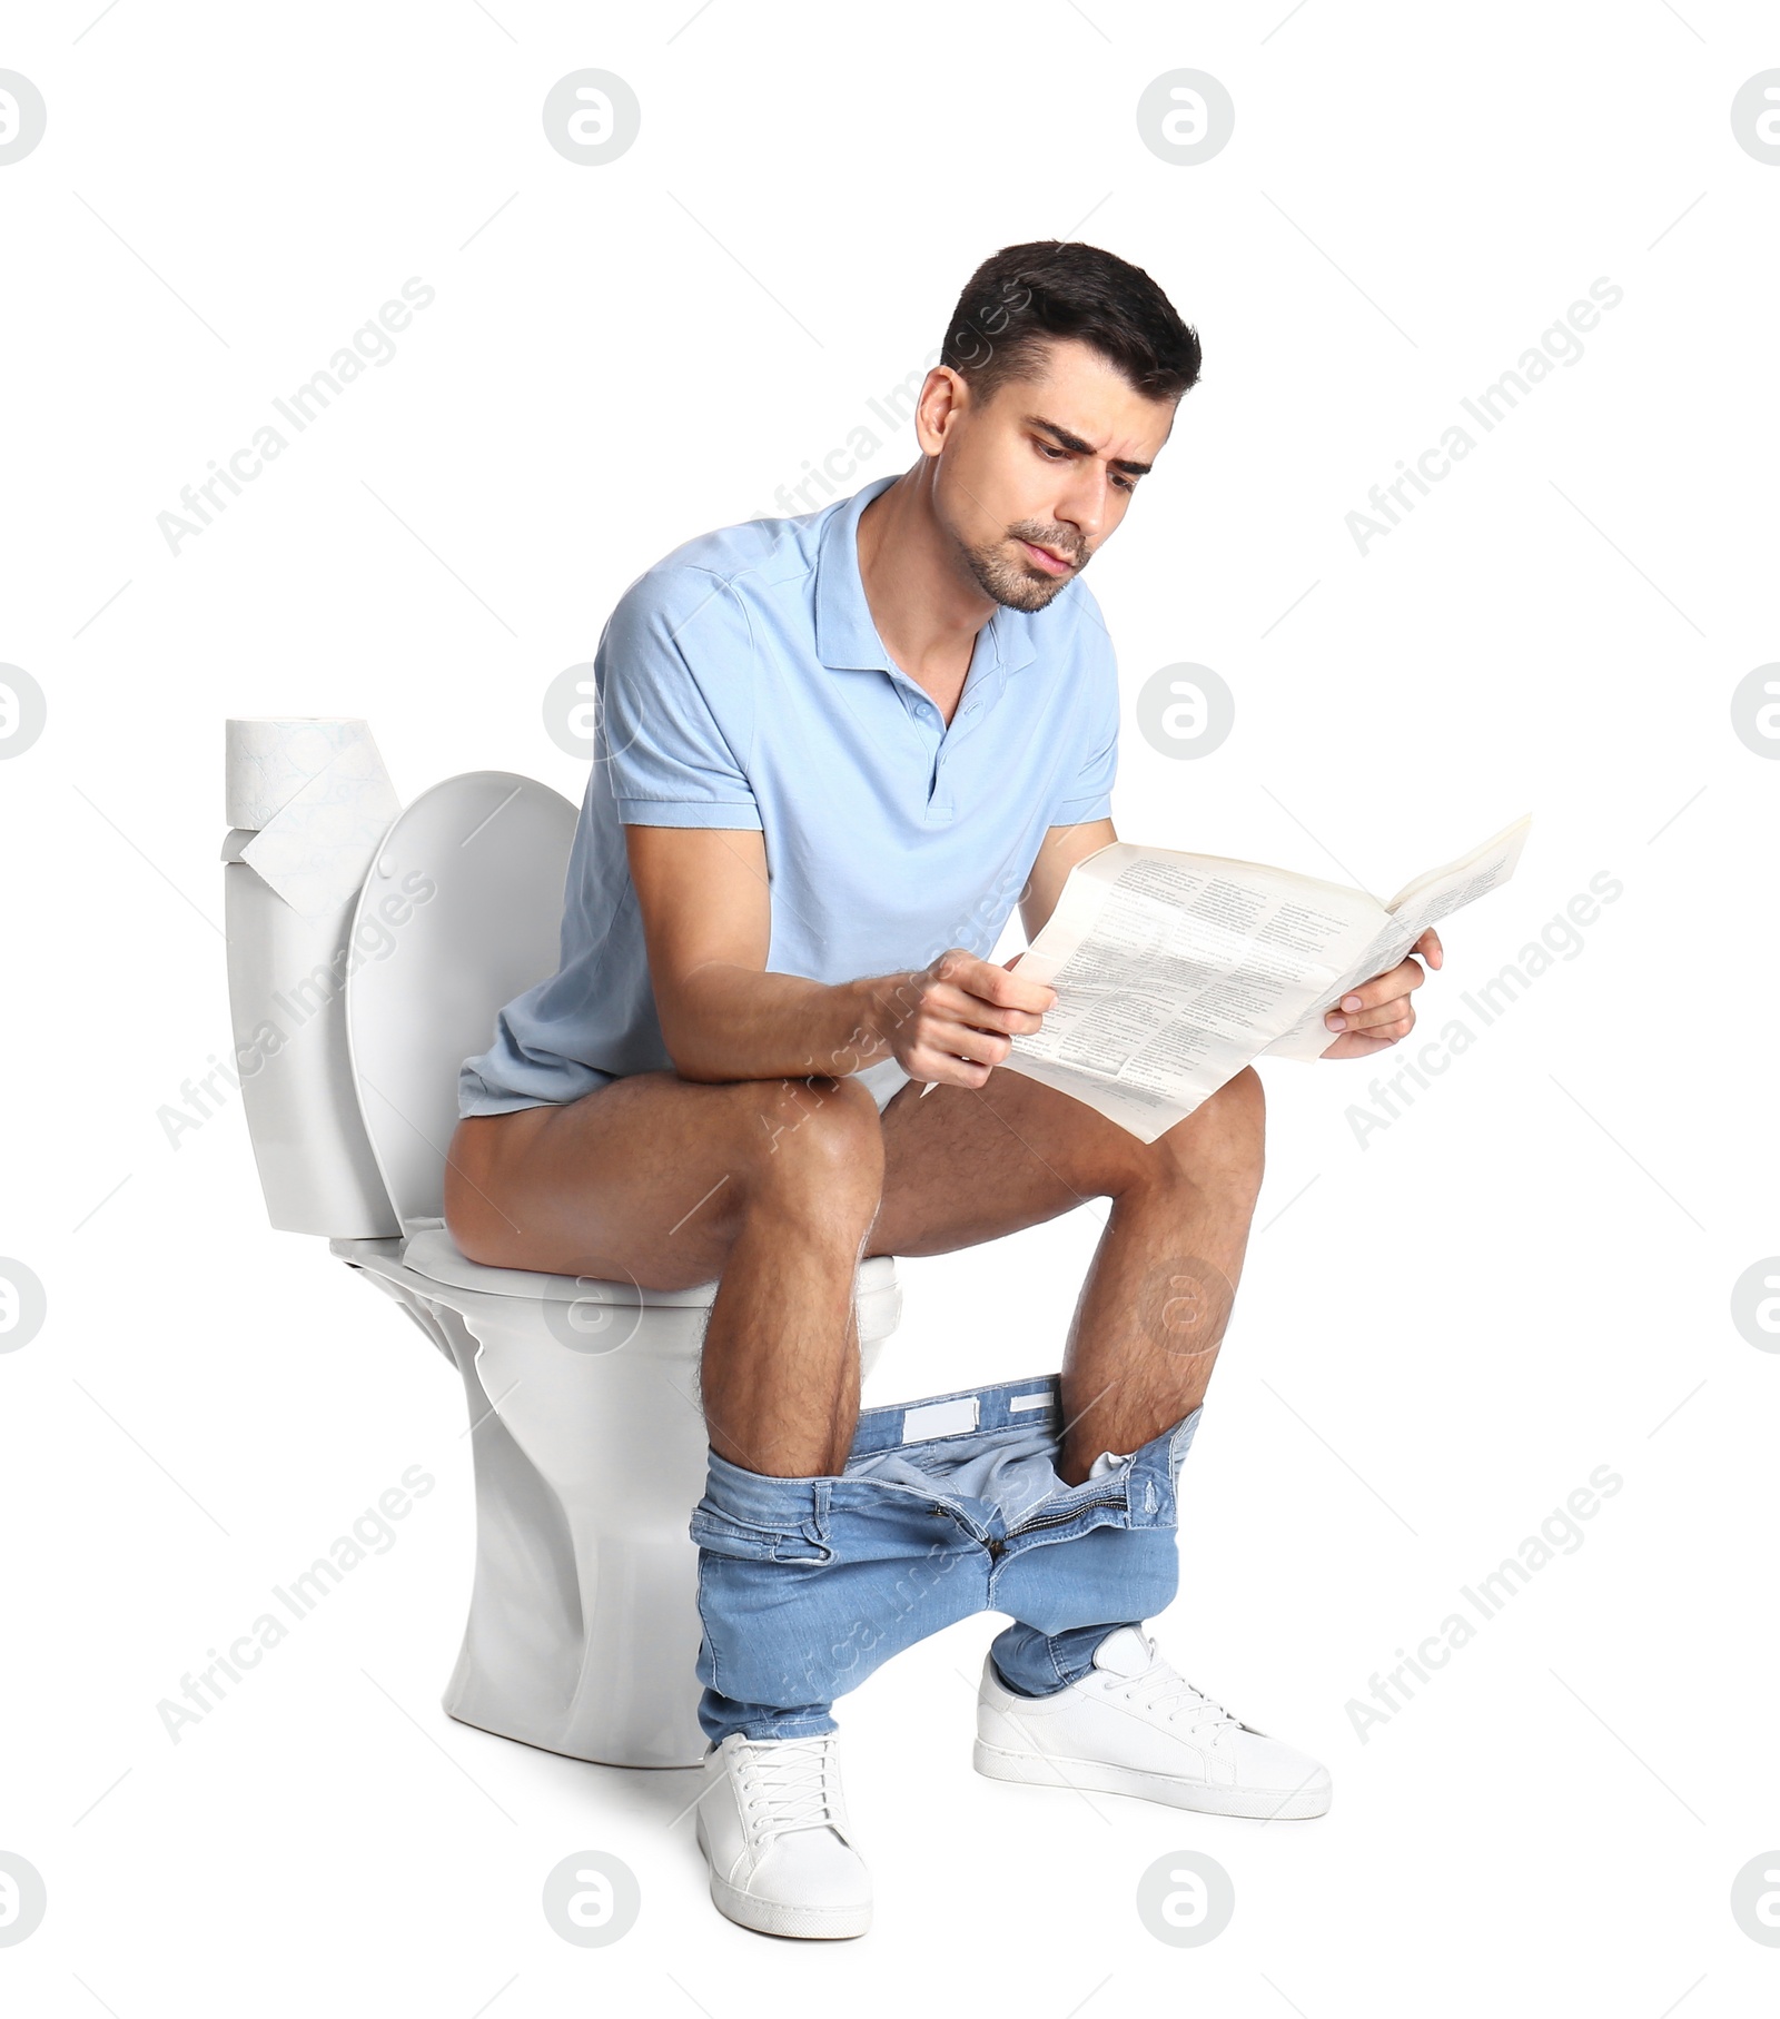
[[293,911],[339,911],[402,812],[371,729],[355,719],[230,721],[228,824],[254,828],[248,862]]

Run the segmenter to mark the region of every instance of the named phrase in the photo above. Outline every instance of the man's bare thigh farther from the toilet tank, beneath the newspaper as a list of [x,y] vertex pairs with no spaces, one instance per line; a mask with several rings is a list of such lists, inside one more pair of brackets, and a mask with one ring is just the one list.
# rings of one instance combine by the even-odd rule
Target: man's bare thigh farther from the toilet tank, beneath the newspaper
[[1150,1155],[1096,1108],[1005,1068],[981,1088],[904,1086],[884,1108],[884,1203],[866,1254],[993,1242],[1118,1191]]

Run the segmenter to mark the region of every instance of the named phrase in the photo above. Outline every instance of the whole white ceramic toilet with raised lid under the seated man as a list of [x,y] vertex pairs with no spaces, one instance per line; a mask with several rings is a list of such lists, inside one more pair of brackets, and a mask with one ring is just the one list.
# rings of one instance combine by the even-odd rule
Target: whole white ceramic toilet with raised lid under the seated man
[[[616,1767],[690,1767],[704,1490],[698,1345],[716,1284],[482,1268],[442,1215],[456,1076],[555,971],[575,810],[470,771],[387,830],[353,905],[305,917],[224,842],[236,1060],[272,1226],[402,1304],[464,1379],[476,1577],[444,1708]],[[864,1371],[896,1329],[896,1264],[858,1274]]]

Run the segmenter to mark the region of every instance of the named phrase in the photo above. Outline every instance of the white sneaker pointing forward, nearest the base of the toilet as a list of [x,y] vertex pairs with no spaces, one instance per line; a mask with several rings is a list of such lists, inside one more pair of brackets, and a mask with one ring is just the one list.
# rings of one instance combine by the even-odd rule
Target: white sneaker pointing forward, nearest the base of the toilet
[[833,1938],[872,1926],[836,1740],[731,1732],[704,1755],[694,1833],[716,1910],[743,1928]]

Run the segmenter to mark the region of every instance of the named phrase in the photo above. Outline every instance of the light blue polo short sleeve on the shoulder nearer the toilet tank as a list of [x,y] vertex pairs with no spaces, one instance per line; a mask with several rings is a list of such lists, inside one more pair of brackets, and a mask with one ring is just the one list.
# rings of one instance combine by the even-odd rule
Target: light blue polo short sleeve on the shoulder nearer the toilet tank
[[747,610],[702,567],[658,567],[618,600],[593,660],[595,763],[618,818],[644,828],[759,828],[745,757],[755,664]]

